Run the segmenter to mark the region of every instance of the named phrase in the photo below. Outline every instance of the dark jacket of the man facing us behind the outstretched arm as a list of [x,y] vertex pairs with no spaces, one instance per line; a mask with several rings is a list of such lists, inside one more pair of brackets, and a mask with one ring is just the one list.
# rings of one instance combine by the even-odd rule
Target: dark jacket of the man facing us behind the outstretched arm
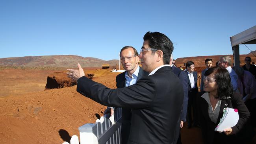
[[[144,75],[148,75],[148,72],[143,71],[141,67],[139,68],[139,73],[137,77],[137,81],[141,79]],[[117,75],[115,81],[117,82],[117,88],[125,87],[125,73],[123,72]],[[132,113],[131,109],[122,108],[122,144],[126,144],[128,142],[128,138],[130,135],[130,127],[131,127]]]

